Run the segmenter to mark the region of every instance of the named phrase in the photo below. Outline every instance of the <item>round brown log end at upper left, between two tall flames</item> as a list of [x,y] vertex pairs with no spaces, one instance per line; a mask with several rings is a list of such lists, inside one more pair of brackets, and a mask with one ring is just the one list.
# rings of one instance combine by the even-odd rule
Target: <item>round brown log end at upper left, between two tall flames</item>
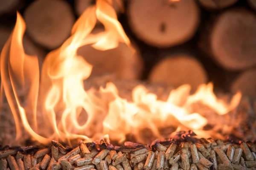
[[27,32],[46,48],[59,47],[70,36],[75,22],[71,6],[64,0],[36,0],[24,12]]

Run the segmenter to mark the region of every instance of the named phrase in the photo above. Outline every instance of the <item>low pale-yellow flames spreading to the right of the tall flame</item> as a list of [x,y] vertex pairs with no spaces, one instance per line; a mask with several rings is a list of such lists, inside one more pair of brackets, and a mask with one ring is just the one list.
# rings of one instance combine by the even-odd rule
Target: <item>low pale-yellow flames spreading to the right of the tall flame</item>
[[[125,134],[138,136],[138,129],[151,129],[154,135],[161,138],[158,127],[166,125],[170,120],[178,120],[171,123],[177,128],[181,126],[187,129],[200,130],[207,125],[207,119],[199,113],[190,113],[189,107],[195,102],[202,102],[212,108],[219,115],[232,111],[241,99],[241,94],[233,96],[230,105],[218,100],[213,94],[212,84],[201,85],[198,91],[189,95],[191,87],[182,85],[169,94],[167,102],[157,100],[157,96],[148,93],[145,87],[139,85],[132,92],[133,102],[116,98],[109,105],[109,113],[103,124],[111,139],[123,142]],[[118,115],[116,113],[119,113]],[[126,131],[127,133],[123,133]],[[198,131],[198,133],[202,133]],[[139,140],[139,142],[143,142]]]

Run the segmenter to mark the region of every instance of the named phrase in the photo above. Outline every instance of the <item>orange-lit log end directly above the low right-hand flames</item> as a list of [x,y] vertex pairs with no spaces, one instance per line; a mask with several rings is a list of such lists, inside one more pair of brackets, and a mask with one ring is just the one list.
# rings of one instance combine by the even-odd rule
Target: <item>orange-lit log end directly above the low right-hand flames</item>
[[174,88],[189,84],[192,91],[195,91],[199,85],[207,82],[207,73],[194,57],[187,54],[176,54],[160,60],[152,69],[149,81],[170,85]]

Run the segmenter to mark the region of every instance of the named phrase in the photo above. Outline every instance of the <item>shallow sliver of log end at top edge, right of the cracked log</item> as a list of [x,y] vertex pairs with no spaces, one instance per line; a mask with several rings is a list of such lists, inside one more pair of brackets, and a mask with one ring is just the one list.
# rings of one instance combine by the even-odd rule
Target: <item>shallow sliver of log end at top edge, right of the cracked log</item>
[[223,9],[223,8],[232,6],[238,0],[198,0],[198,1],[206,9],[218,10],[218,9]]

